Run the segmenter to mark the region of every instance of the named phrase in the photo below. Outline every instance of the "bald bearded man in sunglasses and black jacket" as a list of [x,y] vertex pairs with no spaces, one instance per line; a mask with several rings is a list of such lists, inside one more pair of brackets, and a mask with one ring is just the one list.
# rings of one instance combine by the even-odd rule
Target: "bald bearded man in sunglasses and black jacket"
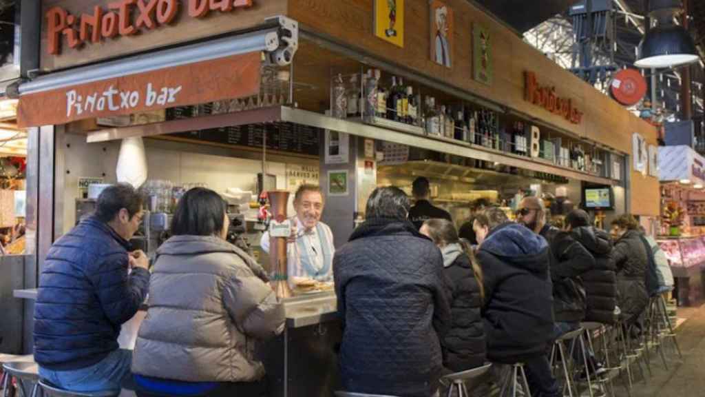
[[548,242],[549,269],[553,282],[553,337],[575,331],[585,316],[585,290],[580,276],[595,266],[595,259],[570,233],[546,223],[546,209],[538,197],[522,200],[517,211],[519,223],[537,232]]

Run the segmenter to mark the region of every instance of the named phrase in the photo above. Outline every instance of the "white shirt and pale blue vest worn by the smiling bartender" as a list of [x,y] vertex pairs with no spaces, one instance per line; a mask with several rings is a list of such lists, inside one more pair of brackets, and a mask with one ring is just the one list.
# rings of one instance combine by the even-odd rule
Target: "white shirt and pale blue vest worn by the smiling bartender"
[[[318,281],[333,281],[333,232],[325,223],[319,222],[311,230],[305,230],[298,217],[290,219],[296,222],[296,241],[286,246],[287,276],[291,287],[295,278],[313,278]],[[259,246],[269,254],[269,232],[262,234]]]

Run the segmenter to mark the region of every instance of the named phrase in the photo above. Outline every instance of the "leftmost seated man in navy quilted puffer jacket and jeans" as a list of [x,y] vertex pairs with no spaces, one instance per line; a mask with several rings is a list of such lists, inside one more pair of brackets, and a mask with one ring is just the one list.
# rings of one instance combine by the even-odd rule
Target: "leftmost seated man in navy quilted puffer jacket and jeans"
[[110,186],[95,214],[49,249],[35,304],[35,360],[43,379],[71,391],[104,391],[119,390],[130,377],[132,354],[117,339],[147,295],[147,256],[130,253],[128,242],[141,221],[137,191]]

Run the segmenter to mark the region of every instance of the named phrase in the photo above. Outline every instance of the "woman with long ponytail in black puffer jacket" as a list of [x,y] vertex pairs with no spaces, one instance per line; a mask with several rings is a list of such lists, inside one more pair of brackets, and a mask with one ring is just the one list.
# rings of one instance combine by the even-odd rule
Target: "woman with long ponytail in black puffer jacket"
[[449,373],[481,367],[485,359],[484,325],[482,324],[482,269],[472,249],[462,242],[453,223],[430,219],[420,230],[429,237],[443,255],[443,273],[448,283],[450,330],[443,339],[443,367]]

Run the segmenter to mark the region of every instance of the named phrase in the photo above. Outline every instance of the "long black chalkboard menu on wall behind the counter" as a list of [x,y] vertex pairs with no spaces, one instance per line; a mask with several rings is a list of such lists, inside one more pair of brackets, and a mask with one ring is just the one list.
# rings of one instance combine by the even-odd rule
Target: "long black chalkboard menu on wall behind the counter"
[[268,150],[317,156],[320,151],[319,137],[322,131],[312,126],[275,122],[205,129],[171,134],[171,136],[193,141],[262,148],[262,141],[264,134],[266,134],[266,148]]

